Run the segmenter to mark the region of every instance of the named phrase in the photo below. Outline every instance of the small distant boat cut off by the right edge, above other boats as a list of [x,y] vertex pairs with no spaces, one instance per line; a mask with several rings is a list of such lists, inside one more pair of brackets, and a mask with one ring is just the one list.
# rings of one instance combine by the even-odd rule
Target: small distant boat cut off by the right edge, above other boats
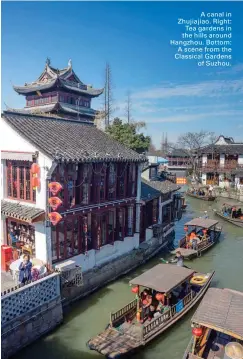
[[234,224],[235,226],[243,228],[243,204],[241,203],[224,203],[221,210],[215,211],[217,216],[225,221]]

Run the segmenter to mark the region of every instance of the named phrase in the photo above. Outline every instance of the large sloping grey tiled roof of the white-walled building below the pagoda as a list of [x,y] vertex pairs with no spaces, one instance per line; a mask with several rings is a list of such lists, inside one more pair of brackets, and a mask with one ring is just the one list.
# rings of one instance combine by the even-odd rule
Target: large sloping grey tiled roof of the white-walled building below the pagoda
[[93,125],[7,111],[2,117],[22,137],[53,159],[74,162],[147,160]]

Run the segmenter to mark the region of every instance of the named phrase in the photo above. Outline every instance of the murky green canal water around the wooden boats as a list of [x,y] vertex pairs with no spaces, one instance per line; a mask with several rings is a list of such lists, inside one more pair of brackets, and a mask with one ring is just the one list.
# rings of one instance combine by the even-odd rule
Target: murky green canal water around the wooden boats
[[[217,203],[188,199],[188,209],[177,223],[176,241],[184,234],[184,223],[195,216],[203,216],[207,211],[209,217],[214,216],[213,208]],[[213,286],[229,287],[243,291],[243,229],[220,221],[223,234],[216,246],[203,257],[190,262],[190,266],[202,271],[216,271]],[[89,351],[86,342],[101,332],[109,322],[110,311],[123,307],[134,298],[128,282],[133,277],[159,263],[158,255],[146,265],[129,273],[120,280],[90,295],[86,299],[73,304],[66,314],[64,324],[50,335],[40,339],[33,345],[23,349],[15,359],[100,359],[99,354]],[[191,337],[190,318],[192,309],[185,318],[174,327],[132,356],[132,359],[181,359]]]

